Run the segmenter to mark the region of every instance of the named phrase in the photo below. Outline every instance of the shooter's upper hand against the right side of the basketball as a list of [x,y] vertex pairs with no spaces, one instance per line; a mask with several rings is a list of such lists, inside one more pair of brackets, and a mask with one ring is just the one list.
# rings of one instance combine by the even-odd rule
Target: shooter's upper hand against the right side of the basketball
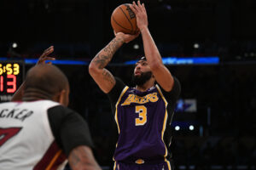
[[136,4],[133,2],[132,5],[130,5],[130,8],[136,14],[137,27],[140,31],[142,31],[143,28],[148,27],[148,15],[144,3],[141,4],[140,1],[137,1]]

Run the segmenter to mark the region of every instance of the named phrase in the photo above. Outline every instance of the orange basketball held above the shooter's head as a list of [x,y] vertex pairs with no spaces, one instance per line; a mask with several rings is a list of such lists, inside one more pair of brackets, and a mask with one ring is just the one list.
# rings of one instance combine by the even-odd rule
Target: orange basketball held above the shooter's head
[[115,32],[136,34],[138,31],[136,15],[131,10],[130,3],[119,5],[111,15],[111,26]]

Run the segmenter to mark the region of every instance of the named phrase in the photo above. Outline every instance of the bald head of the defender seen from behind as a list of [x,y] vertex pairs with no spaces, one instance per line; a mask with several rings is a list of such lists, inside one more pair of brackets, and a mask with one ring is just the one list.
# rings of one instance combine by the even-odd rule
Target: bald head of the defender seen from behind
[[25,94],[33,92],[51,99],[61,90],[69,90],[69,83],[67,77],[55,65],[35,65],[26,74]]

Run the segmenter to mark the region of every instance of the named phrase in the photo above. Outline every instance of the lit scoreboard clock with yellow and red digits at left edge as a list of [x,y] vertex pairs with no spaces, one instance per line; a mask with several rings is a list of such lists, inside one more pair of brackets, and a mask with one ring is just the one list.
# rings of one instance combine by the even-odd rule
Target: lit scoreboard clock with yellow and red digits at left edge
[[9,101],[23,82],[24,61],[0,60],[0,102]]

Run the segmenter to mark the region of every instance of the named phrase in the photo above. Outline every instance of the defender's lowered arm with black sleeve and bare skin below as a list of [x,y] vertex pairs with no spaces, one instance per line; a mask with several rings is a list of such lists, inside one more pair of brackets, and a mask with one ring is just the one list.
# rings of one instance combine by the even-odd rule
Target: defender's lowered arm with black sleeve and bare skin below
[[100,170],[90,149],[93,142],[83,117],[62,105],[50,108],[48,117],[55,141],[64,150],[72,169]]

